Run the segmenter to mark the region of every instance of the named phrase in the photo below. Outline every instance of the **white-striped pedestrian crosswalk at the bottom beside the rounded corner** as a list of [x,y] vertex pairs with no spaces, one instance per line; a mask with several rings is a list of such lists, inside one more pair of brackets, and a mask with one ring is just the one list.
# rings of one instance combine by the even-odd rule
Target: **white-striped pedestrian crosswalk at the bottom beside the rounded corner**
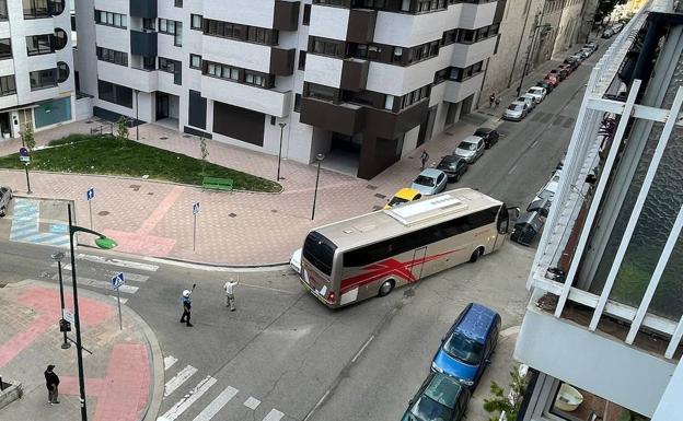
[[[166,373],[173,371],[173,367],[178,362],[173,355],[164,358],[164,370]],[[276,408],[265,408],[262,401],[251,395],[244,395],[242,399],[235,399],[240,395],[240,390],[231,385],[220,385],[220,382],[211,376],[207,375],[198,383],[193,378],[193,375],[198,370],[192,365],[185,365],[178,370],[164,386],[164,402],[166,399],[173,402],[167,410],[160,416],[157,421],[211,421],[224,420],[223,416],[231,411],[234,411],[238,407],[247,408],[253,412],[250,419],[257,420],[257,412],[261,413],[262,421],[280,421],[285,418],[285,413]],[[189,389],[187,389],[189,388]],[[176,396],[183,394],[180,398]],[[213,394],[213,397],[212,397]],[[202,398],[210,398],[209,404],[204,407],[196,407],[196,402],[202,401]],[[177,400],[176,400],[177,399]],[[195,407],[193,407],[195,405]],[[164,405],[163,408],[167,406]],[[261,408],[261,409],[259,409]],[[267,411],[267,413],[266,413]],[[264,416],[265,413],[265,416]],[[193,414],[195,414],[193,417]]]

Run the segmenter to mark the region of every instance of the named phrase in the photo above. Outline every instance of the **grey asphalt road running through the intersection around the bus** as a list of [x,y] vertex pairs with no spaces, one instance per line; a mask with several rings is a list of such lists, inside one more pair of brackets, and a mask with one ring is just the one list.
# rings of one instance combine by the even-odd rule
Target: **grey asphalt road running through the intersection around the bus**
[[[594,57],[588,63],[597,60]],[[525,207],[566,151],[589,72],[590,67],[582,65],[525,120],[503,121],[499,127],[503,138],[471,167],[461,185]],[[55,282],[57,271],[49,247],[0,241],[0,281],[32,278]],[[80,253],[99,255],[86,248]],[[152,327],[164,356],[177,361],[166,371],[166,381],[187,365],[197,369],[197,374],[164,399],[160,416],[211,376],[216,385],[177,420],[195,420],[230,386],[239,390],[236,397],[219,408],[215,419],[263,420],[275,410],[268,421],[389,421],[400,419],[427,375],[440,338],[468,302],[496,308],[502,315],[503,329],[519,326],[533,253],[508,244],[475,265],[463,265],[387,297],[339,311],[329,311],[304,293],[290,270],[241,273],[234,313],[223,306],[221,289],[232,273],[218,270],[158,262],[154,270],[123,268],[138,279],[129,282],[137,291],[124,296]],[[136,261],[111,253],[101,256]],[[80,259],[77,266],[80,278],[104,281],[120,269],[88,259]],[[178,323],[180,293],[193,283],[197,283],[195,326],[189,328]],[[96,286],[83,288],[107,293]],[[482,383],[485,386],[477,389],[470,419],[484,419],[481,400],[488,381],[498,376],[505,381],[511,348],[506,352],[494,359],[498,369],[489,370]],[[245,406],[250,397],[261,401],[255,410]]]

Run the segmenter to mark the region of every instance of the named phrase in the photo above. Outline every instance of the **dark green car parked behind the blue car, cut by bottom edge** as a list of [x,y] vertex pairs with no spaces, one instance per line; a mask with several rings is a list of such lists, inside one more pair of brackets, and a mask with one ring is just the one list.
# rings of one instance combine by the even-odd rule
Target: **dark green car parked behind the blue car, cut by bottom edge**
[[455,378],[429,373],[401,421],[461,421],[465,417],[470,390]]

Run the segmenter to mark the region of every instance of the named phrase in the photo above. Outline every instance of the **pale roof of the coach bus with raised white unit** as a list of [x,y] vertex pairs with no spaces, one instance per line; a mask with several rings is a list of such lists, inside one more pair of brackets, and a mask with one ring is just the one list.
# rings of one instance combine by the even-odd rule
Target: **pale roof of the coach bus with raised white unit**
[[392,209],[323,225],[313,231],[345,250],[500,204],[500,201],[479,191],[459,188]]

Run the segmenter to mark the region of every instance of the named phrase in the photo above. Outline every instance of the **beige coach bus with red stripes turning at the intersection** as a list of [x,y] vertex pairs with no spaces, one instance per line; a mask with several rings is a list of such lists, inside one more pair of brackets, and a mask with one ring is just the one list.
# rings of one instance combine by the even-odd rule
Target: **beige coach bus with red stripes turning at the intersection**
[[384,296],[499,249],[509,211],[461,188],[324,225],[304,241],[299,279],[331,308]]

